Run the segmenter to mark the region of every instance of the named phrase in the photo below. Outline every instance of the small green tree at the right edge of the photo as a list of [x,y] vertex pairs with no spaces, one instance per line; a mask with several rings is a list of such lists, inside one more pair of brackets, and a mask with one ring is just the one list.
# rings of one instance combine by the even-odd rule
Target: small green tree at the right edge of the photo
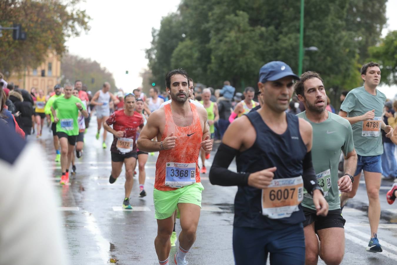
[[381,82],[387,85],[397,84],[397,31],[389,32],[379,45],[368,50],[372,61],[380,64]]

